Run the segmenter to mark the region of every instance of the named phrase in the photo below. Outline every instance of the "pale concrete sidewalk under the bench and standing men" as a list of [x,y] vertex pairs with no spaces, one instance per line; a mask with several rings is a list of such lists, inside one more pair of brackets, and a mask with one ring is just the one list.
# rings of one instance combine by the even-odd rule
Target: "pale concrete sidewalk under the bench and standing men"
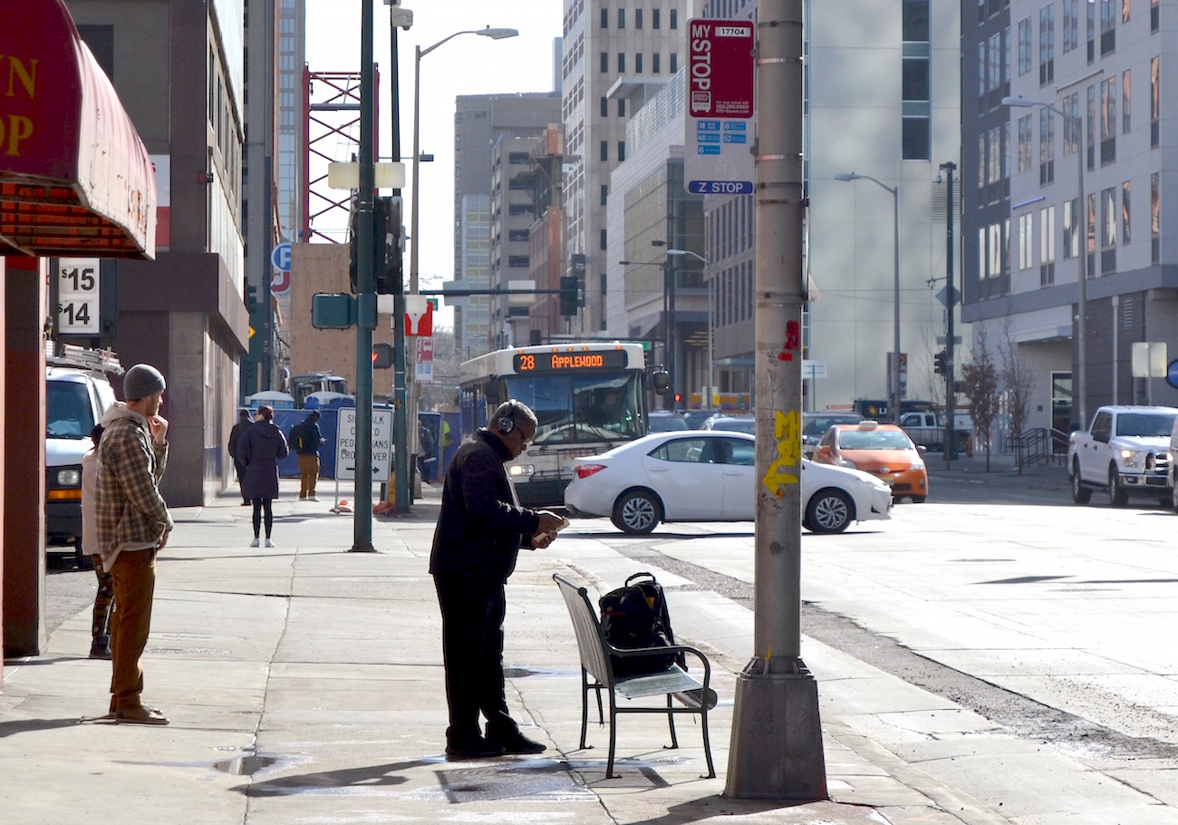
[[[105,713],[110,682],[110,664],[86,658],[88,610],[51,636],[47,655],[5,662],[5,823],[1013,821],[1000,816],[1011,807],[961,788],[974,772],[1001,771],[1005,754],[1025,755],[1025,744],[992,737],[985,720],[964,718],[952,702],[813,641],[803,655],[820,682],[830,800],[722,798],[735,672],[750,649],[752,620],[707,592],[691,598],[713,619],[684,620],[680,635],[713,659],[720,776],[700,778],[697,724],[681,717],[681,747],[668,751],[664,720],[631,715],[620,725],[621,776],[604,779],[607,730],[590,725],[594,747],[577,748],[580,666],[551,581],[560,572],[591,590],[620,583],[590,572],[627,562],[591,534],[522,553],[509,586],[509,702],[548,752],[448,763],[441,618],[426,570],[437,490],[425,488],[409,516],[377,519],[379,552],[359,554],[346,552],[351,517],[327,512],[330,495],[318,504],[292,501],[293,483],[283,482],[276,502],[270,550],[249,547],[250,510],[236,496],[174,512],[144,662],[144,699],[170,726],[81,721]],[[884,718],[891,733],[874,735],[871,720]],[[889,739],[948,730],[981,732],[988,742],[946,744],[945,759],[960,758],[953,781],[905,761]],[[1067,773],[1050,758],[1044,764]]]

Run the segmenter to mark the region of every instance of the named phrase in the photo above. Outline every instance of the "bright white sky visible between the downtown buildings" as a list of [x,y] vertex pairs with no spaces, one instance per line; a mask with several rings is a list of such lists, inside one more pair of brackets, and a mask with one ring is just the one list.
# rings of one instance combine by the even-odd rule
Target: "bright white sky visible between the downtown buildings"
[[[389,6],[382,0],[364,1],[373,1],[375,8],[373,57],[380,72],[377,132],[380,157],[388,159],[392,150]],[[413,12],[412,27],[397,31],[406,232],[413,153],[413,47],[429,48],[455,32],[487,26],[519,31],[518,37],[503,40],[462,34],[422,59],[421,151],[432,153],[434,163],[419,164],[419,289],[441,289],[443,280],[454,278],[455,98],[459,94],[550,91],[552,40],[561,37],[563,6],[561,0],[405,0],[403,4],[402,8]],[[358,2],[306,0],[306,60],[312,72],[358,72],[359,35]],[[408,246],[404,265],[408,284]],[[452,310],[443,309],[435,323],[450,326],[452,317]]]

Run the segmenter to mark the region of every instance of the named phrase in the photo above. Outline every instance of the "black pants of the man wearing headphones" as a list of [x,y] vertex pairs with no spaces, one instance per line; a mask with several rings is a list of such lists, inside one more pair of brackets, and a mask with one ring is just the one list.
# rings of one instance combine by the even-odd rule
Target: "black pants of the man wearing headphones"
[[503,695],[503,585],[471,585],[465,576],[435,575],[442,608],[442,655],[445,695],[450,705],[446,739],[479,734],[478,714],[487,717],[489,735],[517,731]]

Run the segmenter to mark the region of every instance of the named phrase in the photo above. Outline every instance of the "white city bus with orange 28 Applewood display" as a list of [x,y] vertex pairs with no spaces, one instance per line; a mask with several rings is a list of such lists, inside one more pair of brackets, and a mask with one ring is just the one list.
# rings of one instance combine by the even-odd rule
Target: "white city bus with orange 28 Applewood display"
[[531,447],[508,464],[527,507],[561,507],[573,460],[647,434],[642,344],[561,343],[497,350],[458,368],[462,437],[515,398],[536,414]]

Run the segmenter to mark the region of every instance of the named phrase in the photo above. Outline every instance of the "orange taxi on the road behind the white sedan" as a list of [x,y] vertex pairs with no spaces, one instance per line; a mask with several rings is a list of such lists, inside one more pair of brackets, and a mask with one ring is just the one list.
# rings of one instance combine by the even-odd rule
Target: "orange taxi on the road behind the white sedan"
[[814,461],[871,473],[892,488],[895,501],[911,499],[919,504],[928,496],[925,460],[908,434],[895,424],[834,424],[818,442]]

